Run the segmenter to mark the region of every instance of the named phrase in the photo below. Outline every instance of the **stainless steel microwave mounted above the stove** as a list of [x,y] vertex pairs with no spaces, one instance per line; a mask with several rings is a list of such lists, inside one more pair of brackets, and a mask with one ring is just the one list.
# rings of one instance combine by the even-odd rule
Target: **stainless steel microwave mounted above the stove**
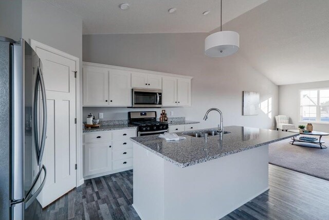
[[132,107],[161,107],[162,106],[162,90],[161,89],[132,89]]

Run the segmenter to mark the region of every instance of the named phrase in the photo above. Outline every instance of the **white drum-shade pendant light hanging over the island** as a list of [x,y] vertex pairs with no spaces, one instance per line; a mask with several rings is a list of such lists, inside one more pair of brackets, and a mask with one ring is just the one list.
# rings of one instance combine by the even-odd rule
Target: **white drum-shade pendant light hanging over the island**
[[222,31],[222,0],[221,0],[221,31],[210,34],[205,40],[205,54],[209,57],[226,57],[239,50],[239,33]]

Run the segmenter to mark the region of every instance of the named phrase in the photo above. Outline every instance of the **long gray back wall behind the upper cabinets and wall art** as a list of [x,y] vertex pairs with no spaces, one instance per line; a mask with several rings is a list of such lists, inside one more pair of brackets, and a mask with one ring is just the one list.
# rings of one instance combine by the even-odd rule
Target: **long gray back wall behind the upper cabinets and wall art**
[[[172,107],[174,116],[202,121],[208,108],[220,108],[225,125],[272,128],[273,117],[242,116],[242,91],[259,91],[261,101],[272,100],[271,115],[278,114],[278,86],[255,70],[237,52],[225,58],[204,55],[207,33],[98,34],[83,35],[83,61],[193,76],[192,107]],[[124,107],[84,107],[104,119],[126,119]],[[216,126],[219,116],[211,113],[204,126]]]

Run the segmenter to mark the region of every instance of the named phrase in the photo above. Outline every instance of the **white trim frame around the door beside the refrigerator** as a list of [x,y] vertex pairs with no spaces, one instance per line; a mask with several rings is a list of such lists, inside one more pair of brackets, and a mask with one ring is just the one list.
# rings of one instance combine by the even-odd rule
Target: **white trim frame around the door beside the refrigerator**
[[[81,134],[82,134],[82,126],[78,126],[78,124],[82,124],[82,119],[80,118],[81,111],[80,111],[80,60],[77,57],[74,57],[66,52],[63,52],[61,50],[58,50],[56,48],[50,47],[46,44],[40,43],[38,41],[35,41],[33,39],[30,39],[30,45],[33,48],[34,51],[36,51],[36,48],[40,48],[43,50],[47,50],[48,52],[57,54],[61,57],[65,57],[67,59],[73,60],[76,62],[76,71],[77,71],[77,78],[76,78],[76,164],[77,164],[77,172],[76,172],[76,187],[79,187],[83,184],[83,152],[82,148],[79,148],[81,146]],[[80,131],[81,130],[81,131]]]

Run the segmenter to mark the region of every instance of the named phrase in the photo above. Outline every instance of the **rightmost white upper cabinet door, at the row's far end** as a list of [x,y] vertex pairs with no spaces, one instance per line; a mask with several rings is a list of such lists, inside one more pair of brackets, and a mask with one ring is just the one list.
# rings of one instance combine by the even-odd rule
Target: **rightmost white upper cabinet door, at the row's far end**
[[177,79],[177,105],[191,106],[191,80]]

